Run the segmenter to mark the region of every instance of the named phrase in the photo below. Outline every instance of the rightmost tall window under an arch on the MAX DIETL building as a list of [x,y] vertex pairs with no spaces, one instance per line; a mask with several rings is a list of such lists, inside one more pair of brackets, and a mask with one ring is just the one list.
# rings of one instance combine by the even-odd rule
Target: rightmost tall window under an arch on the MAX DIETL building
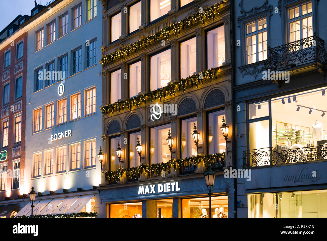
[[223,153],[226,149],[225,138],[220,131],[225,110],[208,113],[208,148],[209,154]]

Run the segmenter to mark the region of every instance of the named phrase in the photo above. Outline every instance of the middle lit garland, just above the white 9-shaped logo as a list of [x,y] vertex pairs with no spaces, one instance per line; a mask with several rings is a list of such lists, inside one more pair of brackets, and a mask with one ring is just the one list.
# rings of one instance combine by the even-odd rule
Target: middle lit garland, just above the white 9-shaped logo
[[222,66],[207,69],[201,73],[188,76],[181,80],[177,80],[161,89],[150,91],[149,93],[146,93],[144,95],[137,95],[132,98],[128,98],[122,101],[114,102],[112,104],[101,106],[100,110],[103,115],[109,115],[115,111],[121,112],[126,108],[128,110],[132,110],[133,106],[139,107],[141,104],[146,103],[146,100],[148,100],[151,103],[157,99],[160,99],[161,101],[162,98],[165,99],[166,96],[168,95],[170,96],[175,95],[176,87],[178,88],[178,91],[181,92],[181,91],[185,91],[187,88],[190,87],[192,87],[192,89],[194,89],[194,87],[198,88],[198,84],[203,84],[203,82],[209,82],[212,79],[217,78],[218,70],[220,68],[222,68]]

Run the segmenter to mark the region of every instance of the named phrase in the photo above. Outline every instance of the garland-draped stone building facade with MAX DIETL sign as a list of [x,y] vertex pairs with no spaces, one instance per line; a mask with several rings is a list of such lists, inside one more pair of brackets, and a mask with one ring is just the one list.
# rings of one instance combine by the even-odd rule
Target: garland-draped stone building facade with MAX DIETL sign
[[230,3],[101,2],[101,218],[233,218]]

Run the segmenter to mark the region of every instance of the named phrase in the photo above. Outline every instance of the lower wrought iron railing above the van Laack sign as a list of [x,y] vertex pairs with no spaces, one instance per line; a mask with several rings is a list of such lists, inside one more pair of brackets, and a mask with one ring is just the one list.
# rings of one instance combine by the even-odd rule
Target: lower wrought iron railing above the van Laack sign
[[274,151],[272,147],[243,151],[244,168],[327,160],[327,144]]

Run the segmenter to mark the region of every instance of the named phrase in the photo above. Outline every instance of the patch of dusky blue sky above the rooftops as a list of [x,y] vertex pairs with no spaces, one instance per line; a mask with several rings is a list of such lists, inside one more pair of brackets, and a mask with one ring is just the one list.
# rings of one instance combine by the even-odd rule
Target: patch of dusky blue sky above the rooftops
[[[36,2],[40,4],[41,0]],[[50,0],[42,0],[42,4],[46,4]],[[31,15],[34,8],[34,0],[0,0],[0,32],[19,14]]]

